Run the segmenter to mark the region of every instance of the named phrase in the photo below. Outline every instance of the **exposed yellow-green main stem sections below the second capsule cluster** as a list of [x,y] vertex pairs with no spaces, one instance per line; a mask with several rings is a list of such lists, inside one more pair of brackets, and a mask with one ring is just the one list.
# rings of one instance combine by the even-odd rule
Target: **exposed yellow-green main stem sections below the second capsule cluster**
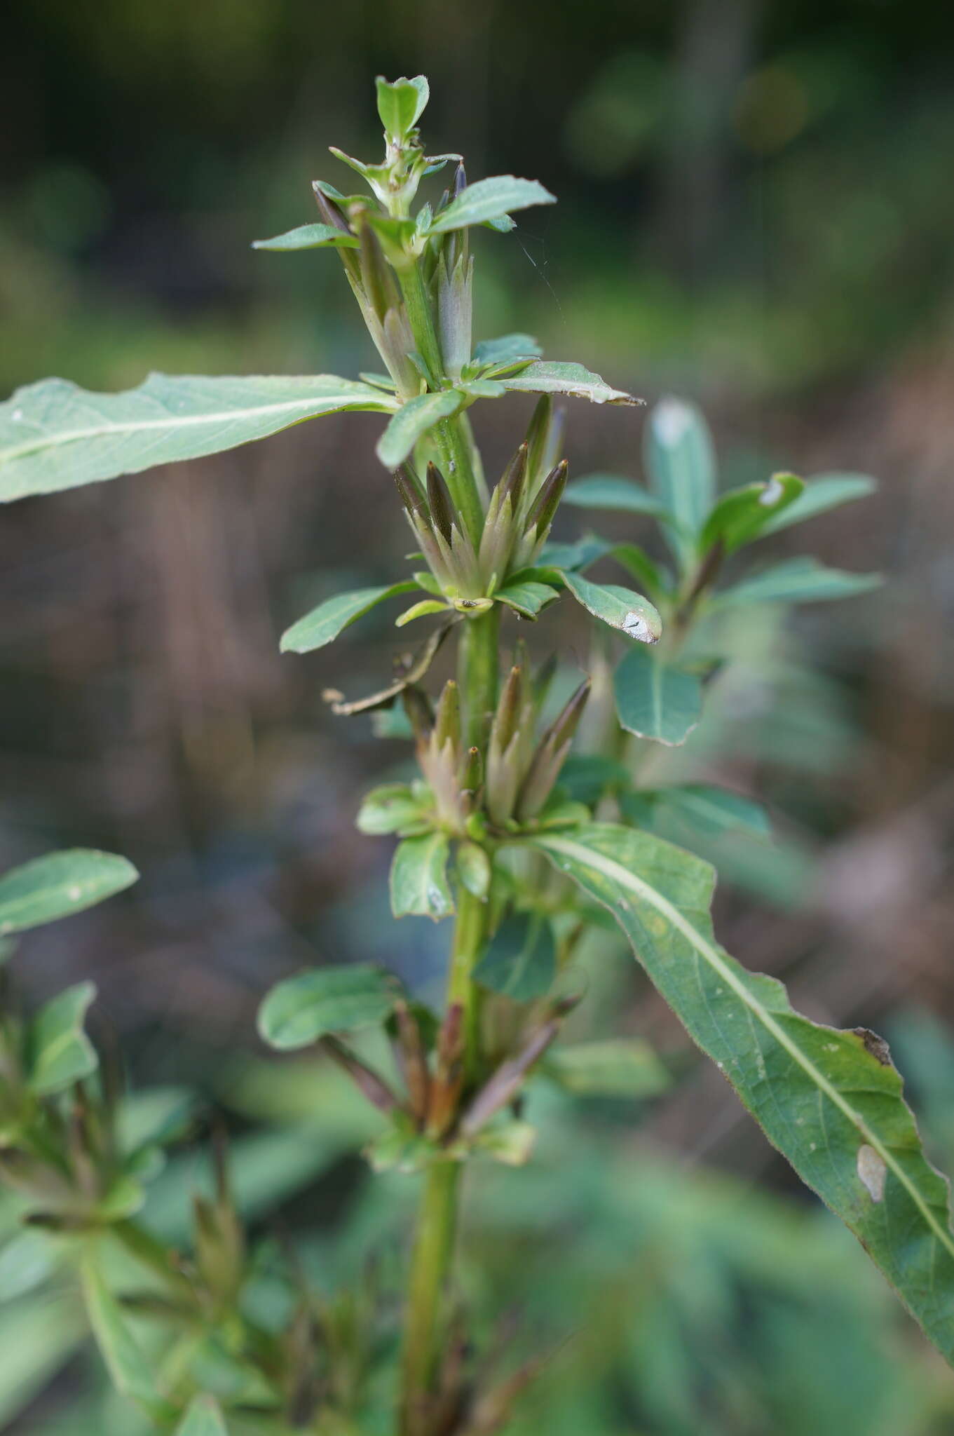
[[[493,711],[496,704],[498,632],[496,606],[462,625],[458,668],[466,741],[472,745],[483,744],[488,714]],[[478,1058],[479,989],[472,981],[472,972],[479,961],[485,935],[486,903],[461,887],[450,948],[448,1002],[459,1002],[463,1010],[468,1071],[473,1071]],[[445,1330],[443,1302],[453,1259],[459,1189],[459,1162],[439,1162],[430,1167],[425,1178],[407,1285],[402,1436],[419,1436],[422,1432],[422,1413],[426,1412],[428,1396],[438,1374]]]

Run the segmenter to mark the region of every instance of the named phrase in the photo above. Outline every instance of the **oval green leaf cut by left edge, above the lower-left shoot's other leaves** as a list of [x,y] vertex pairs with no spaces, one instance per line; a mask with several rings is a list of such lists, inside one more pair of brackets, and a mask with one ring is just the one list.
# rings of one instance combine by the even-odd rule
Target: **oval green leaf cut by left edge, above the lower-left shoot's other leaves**
[[0,933],[69,918],[121,893],[138,877],[125,857],[92,847],[34,857],[0,877]]

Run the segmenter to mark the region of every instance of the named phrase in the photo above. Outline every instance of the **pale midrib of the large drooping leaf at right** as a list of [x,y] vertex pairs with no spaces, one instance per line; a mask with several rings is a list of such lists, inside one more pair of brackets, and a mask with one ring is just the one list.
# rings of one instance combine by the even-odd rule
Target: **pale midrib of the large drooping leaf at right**
[[752,994],[747,991],[743,982],[739,981],[736,974],[727,966],[717,948],[707,942],[703,935],[683,918],[679,908],[673,906],[669,899],[663,898],[660,892],[656,890],[650,883],[643,882],[621,863],[614,862],[611,857],[605,857],[603,853],[597,853],[590,847],[584,847],[578,843],[572,843],[568,839],[548,837],[538,839],[537,846],[548,852],[565,853],[575,862],[584,864],[585,867],[592,867],[595,872],[603,873],[613,882],[620,883],[623,887],[628,887],[630,892],[637,893],[640,898],[650,902],[658,913],[661,913],[669,922],[677,928],[684,938],[689,939],[699,955],[713,968],[719,976],[729,984],[733,992],[742,999],[742,1002],[749,1008],[750,1012],[762,1022],[762,1025],[775,1037],[782,1048],[798,1063],[798,1066],[812,1078],[815,1086],[822,1091],[828,1100],[839,1109],[839,1111],[848,1117],[852,1126],[861,1133],[868,1146],[874,1147],[885,1166],[894,1173],[901,1186],[905,1189],[917,1209],[921,1212],[924,1221],[935,1234],[937,1239],[943,1246],[947,1248],[948,1255],[954,1256],[954,1236],[947,1232],[937,1221],[931,1208],[925,1203],[924,1198],[918,1192],[917,1186],[911,1182],[904,1167],[898,1165],[894,1159],[891,1149],[884,1144],[881,1137],[868,1127],[868,1123],[855,1109],[848,1103],[842,1094],[833,1087],[822,1071],[811,1061],[809,1057],[800,1050],[798,1043],[793,1043],[785,1030],[775,1021],[772,1014],[757,1002]]

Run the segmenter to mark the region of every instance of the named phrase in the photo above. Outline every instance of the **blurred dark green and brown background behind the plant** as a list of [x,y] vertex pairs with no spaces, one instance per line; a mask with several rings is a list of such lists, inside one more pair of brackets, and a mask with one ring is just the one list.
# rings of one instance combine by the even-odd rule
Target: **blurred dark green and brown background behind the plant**
[[[432,152],[559,198],[479,234],[478,335],[535,333],[709,414],[726,482],[872,472],[877,498],[772,540],[885,589],[733,632],[713,711],[669,771],[766,798],[773,844],[722,844],[719,929],[796,1005],[884,1031],[954,1166],[954,16],[931,0],[9,0],[0,50],[0,382],[337,372],[370,346],[333,254],[250,241],[314,217],[329,144],[374,157],[374,73],[430,76]],[[489,468],[522,435],[485,405]],[[641,418],[575,406],[568,457],[638,474]],[[357,797],[403,761],[320,691],[360,689],[393,630],[280,658],[277,636],[407,547],[346,415],[0,524],[0,867],[83,843],[143,873],[23,942],[26,1001],[79,976],[138,1086],[186,1084],[234,1132],[255,1231],[327,1291],[406,1242],[415,1179],[370,1182],[370,1119],[320,1064],[270,1077],[254,1012],[316,961],[439,981],[443,933],[392,929],[387,844]],[[561,516],[561,537],[581,516]],[[641,537],[633,520],[608,533]],[[585,662],[562,609],[539,651]],[[465,1287],[555,1348],[519,1433],[941,1436],[954,1381],[852,1239],[790,1178],[607,936],[582,1034],[651,1038],[643,1101],[539,1084],[534,1166],[483,1173]],[[197,1176],[164,1178],[175,1235]],[[165,1203],[165,1205],[164,1205]],[[3,1218],[0,1215],[0,1223]],[[165,1225],[164,1225],[165,1223]],[[176,1225],[178,1223],[178,1225]],[[559,1259],[555,1259],[558,1254]],[[1,1294],[0,1294],[1,1295]],[[69,1311],[0,1304],[0,1429],[131,1436]]]

